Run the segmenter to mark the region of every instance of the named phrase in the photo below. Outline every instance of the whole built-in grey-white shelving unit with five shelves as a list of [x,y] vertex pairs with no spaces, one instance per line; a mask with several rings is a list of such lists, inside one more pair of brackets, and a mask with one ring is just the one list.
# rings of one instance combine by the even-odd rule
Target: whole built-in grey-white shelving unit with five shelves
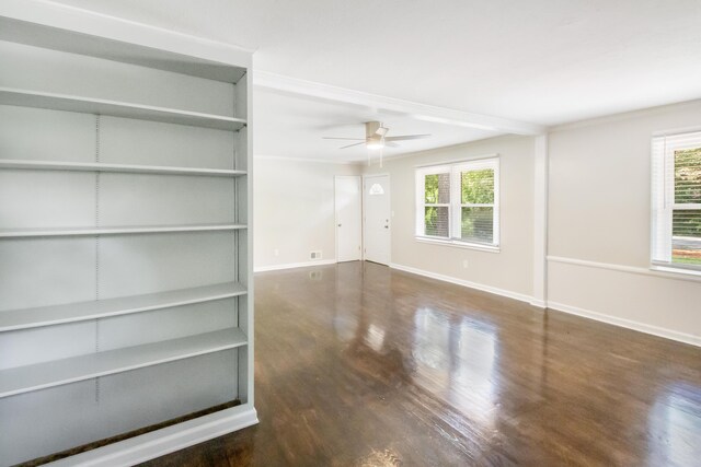
[[0,467],[256,423],[251,54],[7,0],[0,67]]

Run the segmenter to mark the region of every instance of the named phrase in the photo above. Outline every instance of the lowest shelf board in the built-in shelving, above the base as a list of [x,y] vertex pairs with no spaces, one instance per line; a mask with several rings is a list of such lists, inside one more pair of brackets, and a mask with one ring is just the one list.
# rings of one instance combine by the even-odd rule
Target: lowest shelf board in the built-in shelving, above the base
[[238,328],[0,371],[0,397],[91,380],[245,346]]

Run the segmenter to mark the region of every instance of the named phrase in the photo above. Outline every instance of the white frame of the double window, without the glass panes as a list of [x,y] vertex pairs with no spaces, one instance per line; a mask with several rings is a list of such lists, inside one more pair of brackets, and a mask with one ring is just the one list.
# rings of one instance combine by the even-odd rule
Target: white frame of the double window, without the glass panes
[[[482,170],[494,171],[494,203],[472,205],[462,203],[461,197],[461,173]],[[450,202],[449,203],[425,203],[425,177],[426,175],[450,174]],[[461,161],[450,164],[428,165],[416,167],[416,212],[415,212],[415,236],[420,242],[439,243],[452,246],[461,246],[491,252],[499,250],[501,238],[501,211],[499,211],[499,157],[497,155],[485,159]],[[425,234],[424,215],[426,207],[448,207],[448,232],[449,237],[439,237]],[[462,208],[489,207],[493,208],[493,238],[492,243],[470,242],[461,238],[461,215]]]

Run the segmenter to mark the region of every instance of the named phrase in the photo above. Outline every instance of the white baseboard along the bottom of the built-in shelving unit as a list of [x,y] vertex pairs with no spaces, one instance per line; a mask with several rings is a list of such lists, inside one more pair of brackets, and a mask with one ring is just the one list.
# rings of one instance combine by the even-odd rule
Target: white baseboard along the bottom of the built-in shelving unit
[[250,405],[232,407],[172,427],[47,464],[51,467],[133,466],[258,422]]

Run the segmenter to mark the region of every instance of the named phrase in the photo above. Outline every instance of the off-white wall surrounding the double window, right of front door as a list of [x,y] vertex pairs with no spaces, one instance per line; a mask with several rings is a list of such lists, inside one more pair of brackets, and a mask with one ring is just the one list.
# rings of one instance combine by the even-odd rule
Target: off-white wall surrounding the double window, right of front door
[[[383,168],[374,163],[366,172],[390,175],[392,266],[529,301],[533,287],[533,143],[527,137],[493,138],[390,159]],[[490,154],[501,159],[501,253],[418,242],[414,236],[415,167]],[[463,268],[464,259],[468,268]]]

